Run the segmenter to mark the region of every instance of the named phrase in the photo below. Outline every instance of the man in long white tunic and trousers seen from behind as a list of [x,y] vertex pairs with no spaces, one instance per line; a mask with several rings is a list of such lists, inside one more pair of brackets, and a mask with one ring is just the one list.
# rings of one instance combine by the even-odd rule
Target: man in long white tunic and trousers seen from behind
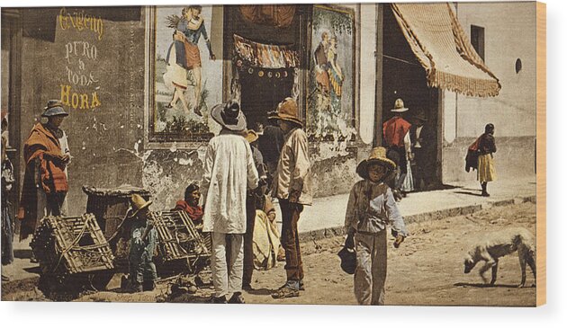
[[257,188],[258,173],[250,146],[243,137],[247,123],[238,102],[214,106],[211,117],[222,126],[220,134],[209,141],[201,184],[205,195],[202,231],[210,232],[212,239],[211,270],[215,288],[212,301],[227,303],[227,296],[231,294],[228,303],[244,303],[246,196],[247,188]]

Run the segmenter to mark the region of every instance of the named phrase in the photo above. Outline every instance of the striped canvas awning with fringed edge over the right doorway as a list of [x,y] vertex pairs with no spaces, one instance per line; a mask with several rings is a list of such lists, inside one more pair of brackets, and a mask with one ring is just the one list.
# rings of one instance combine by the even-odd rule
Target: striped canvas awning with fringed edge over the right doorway
[[498,95],[498,78],[473,49],[450,4],[392,4],[392,11],[429,86],[478,97]]

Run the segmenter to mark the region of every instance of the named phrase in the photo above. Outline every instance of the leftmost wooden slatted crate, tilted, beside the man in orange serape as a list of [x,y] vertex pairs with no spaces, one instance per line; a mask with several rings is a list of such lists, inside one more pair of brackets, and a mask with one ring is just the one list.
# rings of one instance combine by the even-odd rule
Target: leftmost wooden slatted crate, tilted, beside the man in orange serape
[[42,273],[76,274],[114,269],[114,255],[93,214],[43,217],[31,241]]

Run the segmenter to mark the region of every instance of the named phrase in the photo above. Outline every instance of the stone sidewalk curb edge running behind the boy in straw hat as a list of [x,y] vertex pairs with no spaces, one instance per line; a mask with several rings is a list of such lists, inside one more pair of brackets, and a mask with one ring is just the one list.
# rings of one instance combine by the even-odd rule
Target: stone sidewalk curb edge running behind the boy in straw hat
[[[512,199],[500,199],[495,201],[489,201],[488,203],[484,203],[484,204],[439,209],[431,212],[419,213],[404,217],[404,221],[406,225],[409,225],[410,223],[440,220],[446,217],[457,217],[457,216],[472,214],[482,209],[514,205],[514,204],[522,204],[528,202],[536,203],[536,195],[520,196]],[[331,238],[339,235],[346,235],[344,226],[335,226],[335,227],[323,228],[318,230],[305,231],[299,234],[299,240],[300,243],[305,243],[305,242],[317,241],[325,238]]]

